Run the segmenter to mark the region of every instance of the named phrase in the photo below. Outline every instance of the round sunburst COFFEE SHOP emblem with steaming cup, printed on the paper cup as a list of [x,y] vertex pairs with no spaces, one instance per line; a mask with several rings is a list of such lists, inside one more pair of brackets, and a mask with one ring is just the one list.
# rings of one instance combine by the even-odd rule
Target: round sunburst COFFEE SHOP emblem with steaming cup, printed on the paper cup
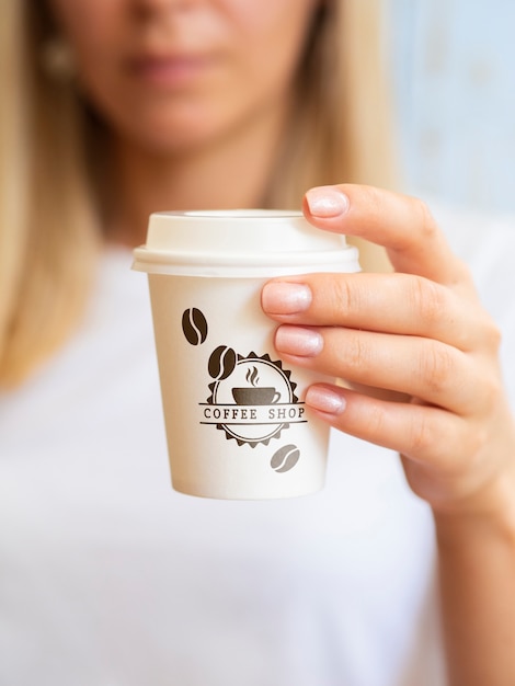
[[247,356],[218,346],[210,355],[210,396],[202,403],[203,424],[214,424],[226,438],[254,448],[278,438],[290,424],[304,423],[304,402],[295,395],[297,384],[283,363],[268,354]]

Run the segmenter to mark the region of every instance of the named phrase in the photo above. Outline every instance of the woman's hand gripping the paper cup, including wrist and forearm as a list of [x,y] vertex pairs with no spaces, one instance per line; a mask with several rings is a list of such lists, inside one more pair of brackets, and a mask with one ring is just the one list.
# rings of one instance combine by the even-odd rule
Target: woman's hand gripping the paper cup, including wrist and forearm
[[420,201],[327,186],[307,194],[305,214],[384,245],[394,273],[268,282],[262,300],[281,324],[276,348],[352,386],[311,386],[306,403],[336,428],[398,450],[433,507],[449,685],[511,686],[515,427],[500,334]]

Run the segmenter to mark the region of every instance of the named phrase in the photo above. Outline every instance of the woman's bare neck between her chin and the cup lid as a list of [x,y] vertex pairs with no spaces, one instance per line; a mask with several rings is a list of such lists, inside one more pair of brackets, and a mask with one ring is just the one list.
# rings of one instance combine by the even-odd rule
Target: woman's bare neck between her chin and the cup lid
[[152,211],[262,206],[284,121],[285,112],[276,112],[209,145],[170,155],[116,139],[107,239],[145,242]]

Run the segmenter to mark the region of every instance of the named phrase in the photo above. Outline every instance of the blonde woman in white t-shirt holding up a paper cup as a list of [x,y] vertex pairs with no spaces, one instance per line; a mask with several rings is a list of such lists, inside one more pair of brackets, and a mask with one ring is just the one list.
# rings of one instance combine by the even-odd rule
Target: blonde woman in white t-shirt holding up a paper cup
[[[2,681],[433,686],[445,642],[450,684],[512,684],[499,334],[425,206],[356,185],[391,185],[375,5],[2,12]],[[153,210],[293,206],[308,188],[308,219],[385,247],[394,270],[366,243],[366,274],[263,290],[281,356],[348,381],[306,397],[341,430],[328,488],[170,493],[123,247]]]

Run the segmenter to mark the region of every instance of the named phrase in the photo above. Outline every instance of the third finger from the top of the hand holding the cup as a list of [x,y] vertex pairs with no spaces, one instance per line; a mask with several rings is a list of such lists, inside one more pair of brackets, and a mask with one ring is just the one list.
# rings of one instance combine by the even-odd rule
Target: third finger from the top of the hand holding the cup
[[480,381],[478,356],[417,336],[282,325],[275,347],[291,364],[416,397],[458,414],[478,412],[495,391]]

